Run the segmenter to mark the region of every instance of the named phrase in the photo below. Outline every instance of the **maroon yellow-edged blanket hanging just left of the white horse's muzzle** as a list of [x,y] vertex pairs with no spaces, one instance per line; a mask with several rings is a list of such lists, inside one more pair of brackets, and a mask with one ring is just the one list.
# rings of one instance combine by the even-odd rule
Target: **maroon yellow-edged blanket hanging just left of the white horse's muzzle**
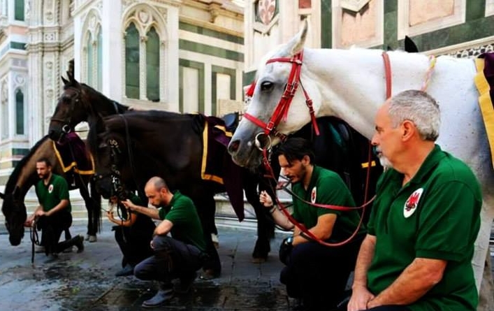
[[224,185],[235,215],[241,222],[245,218],[242,168],[233,163],[226,152],[232,133],[226,131],[224,121],[217,117],[205,117],[205,120],[201,178]]

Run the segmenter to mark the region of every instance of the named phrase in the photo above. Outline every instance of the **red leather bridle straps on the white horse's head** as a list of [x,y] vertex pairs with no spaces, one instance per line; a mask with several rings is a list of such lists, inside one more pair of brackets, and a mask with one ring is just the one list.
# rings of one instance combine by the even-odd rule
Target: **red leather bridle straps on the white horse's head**
[[[275,63],[275,62],[291,63],[290,75],[288,77],[288,81],[286,82],[286,87],[282,94],[282,98],[279,99],[279,102],[269,122],[265,123],[259,120],[257,117],[250,115],[249,113],[244,113],[243,115],[247,120],[261,127],[261,129],[263,129],[266,135],[273,134],[274,136],[279,137],[281,140],[286,140],[286,135],[284,135],[283,133],[279,133],[279,131],[277,131],[276,128],[279,122],[281,122],[282,120],[284,121],[286,120],[286,115],[288,114],[291,101],[293,100],[293,96],[295,96],[295,93],[297,92],[299,84],[304,92],[305,103],[309,108],[310,118],[312,120],[312,124],[314,125],[314,131],[316,135],[319,135],[319,127],[317,126],[314,107],[312,106],[312,99],[310,99],[309,94],[305,91],[302,81],[300,80],[302,60],[303,60],[303,50],[302,52],[293,55],[293,57],[277,57],[270,59],[268,60],[268,62],[266,62],[266,64]],[[254,94],[255,86],[256,86],[256,81],[252,82],[252,85],[249,87],[249,90],[247,91],[247,96],[252,96]]]

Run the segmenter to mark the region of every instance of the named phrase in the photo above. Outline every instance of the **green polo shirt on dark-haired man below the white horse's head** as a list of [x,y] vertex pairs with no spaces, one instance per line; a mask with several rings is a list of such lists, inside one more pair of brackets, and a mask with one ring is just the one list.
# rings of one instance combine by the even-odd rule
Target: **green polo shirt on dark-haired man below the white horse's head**
[[[292,191],[307,202],[355,206],[354,198],[340,175],[319,166],[314,166],[307,190],[304,189],[302,182],[297,182],[293,184]],[[293,198],[292,216],[297,222],[304,224],[307,229],[316,226],[317,218],[325,214],[337,215],[333,233],[331,233],[330,237],[330,241],[333,243],[342,242],[342,240],[349,238],[356,230],[360,220],[360,214],[357,210],[340,211],[317,208]],[[364,233],[364,231],[365,229],[361,227],[360,232]]]

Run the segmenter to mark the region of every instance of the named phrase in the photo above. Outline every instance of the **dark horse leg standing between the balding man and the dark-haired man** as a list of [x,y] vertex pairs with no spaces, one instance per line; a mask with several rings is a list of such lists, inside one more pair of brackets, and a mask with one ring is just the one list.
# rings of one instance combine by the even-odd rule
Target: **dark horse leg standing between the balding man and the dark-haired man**
[[261,185],[261,178],[248,171],[245,171],[243,175],[245,196],[254,208],[257,219],[257,240],[252,252],[252,262],[262,263],[268,259],[271,251],[270,239],[275,236],[275,222],[268,210],[259,203],[256,186],[259,184],[260,188],[266,188],[265,185]]

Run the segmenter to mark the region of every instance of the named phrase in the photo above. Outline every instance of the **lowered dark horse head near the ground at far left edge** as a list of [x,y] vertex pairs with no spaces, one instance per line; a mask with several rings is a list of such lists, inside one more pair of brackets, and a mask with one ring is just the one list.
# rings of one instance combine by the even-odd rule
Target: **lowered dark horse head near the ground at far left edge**
[[20,198],[19,188],[16,187],[11,194],[2,194],[1,210],[5,216],[5,226],[8,231],[10,245],[17,246],[24,237],[24,222],[27,218],[24,200]]

